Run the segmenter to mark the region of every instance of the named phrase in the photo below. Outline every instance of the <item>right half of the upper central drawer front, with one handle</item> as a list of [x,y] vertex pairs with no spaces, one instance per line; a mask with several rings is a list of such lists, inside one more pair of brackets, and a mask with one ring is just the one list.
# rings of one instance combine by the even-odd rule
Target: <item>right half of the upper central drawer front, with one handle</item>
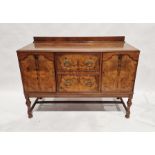
[[79,54],[79,71],[99,71],[99,55],[98,54]]

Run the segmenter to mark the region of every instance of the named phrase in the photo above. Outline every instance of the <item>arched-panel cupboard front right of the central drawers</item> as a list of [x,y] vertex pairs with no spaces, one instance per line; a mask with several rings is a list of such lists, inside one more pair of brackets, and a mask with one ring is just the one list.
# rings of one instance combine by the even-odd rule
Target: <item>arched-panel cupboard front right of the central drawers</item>
[[138,53],[103,53],[102,92],[128,93],[133,90]]

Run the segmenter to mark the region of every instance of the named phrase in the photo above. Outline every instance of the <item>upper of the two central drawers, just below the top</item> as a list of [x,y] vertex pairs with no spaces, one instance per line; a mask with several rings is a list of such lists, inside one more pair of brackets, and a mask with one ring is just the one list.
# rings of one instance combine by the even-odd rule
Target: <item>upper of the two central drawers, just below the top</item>
[[57,54],[59,71],[99,71],[100,55],[98,53],[62,53]]

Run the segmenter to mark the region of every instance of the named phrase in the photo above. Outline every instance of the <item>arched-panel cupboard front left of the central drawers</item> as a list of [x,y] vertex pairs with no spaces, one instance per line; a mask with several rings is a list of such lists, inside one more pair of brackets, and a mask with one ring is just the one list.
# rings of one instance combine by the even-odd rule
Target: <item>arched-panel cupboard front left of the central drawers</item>
[[55,92],[53,54],[18,54],[24,90],[26,92]]

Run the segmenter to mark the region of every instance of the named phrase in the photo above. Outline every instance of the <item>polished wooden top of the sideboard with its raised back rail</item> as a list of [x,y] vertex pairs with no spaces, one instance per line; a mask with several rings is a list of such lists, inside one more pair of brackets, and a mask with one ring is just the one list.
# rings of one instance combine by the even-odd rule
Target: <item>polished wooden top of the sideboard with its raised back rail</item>
[[117,52],[139,50],[124,36],[111,37],[34,37],[33,43],[17,52]]

